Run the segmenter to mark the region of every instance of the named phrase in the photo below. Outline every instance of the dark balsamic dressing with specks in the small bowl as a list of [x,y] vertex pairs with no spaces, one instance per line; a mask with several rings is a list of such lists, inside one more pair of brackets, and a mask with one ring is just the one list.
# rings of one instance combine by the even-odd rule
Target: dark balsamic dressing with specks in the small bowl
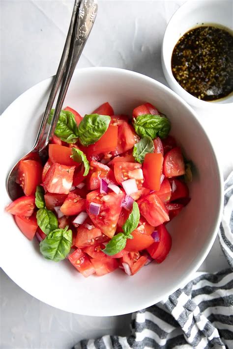
[[233,92],[233,34],[226,29],[212,25],[195,27],[179,39],[173,50],[175,80],[204,101]]

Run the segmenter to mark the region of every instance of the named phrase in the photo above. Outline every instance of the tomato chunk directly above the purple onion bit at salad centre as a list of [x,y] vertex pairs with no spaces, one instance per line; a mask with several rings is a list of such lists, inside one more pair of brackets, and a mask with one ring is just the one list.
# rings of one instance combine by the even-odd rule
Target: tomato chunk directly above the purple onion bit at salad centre
[[90,162],[90,171],[87,175],[87,189],[94,190],[100,188],[101,179],[104,179],[107,183],[117,184],[113,170],[110,167],[92,160]]

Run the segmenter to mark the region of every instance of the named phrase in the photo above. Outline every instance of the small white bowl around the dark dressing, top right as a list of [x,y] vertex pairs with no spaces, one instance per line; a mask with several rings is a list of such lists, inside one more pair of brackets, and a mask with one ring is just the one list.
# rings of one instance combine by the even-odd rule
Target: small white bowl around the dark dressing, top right
[[232,0],[204,0],[204,1],[187,1],[175,12],[166,28],[162,51],[162,67],[165,78],[169,86],[186,102],[194,107],[200,108],[221,108],[224,109],[226,104],[231,103],[233,105],[233,94],[226,98],[214,101],[206,102],[202,101],[180,86],[175,80],[171,59],[173,49],[177,41],[188,30],[202,24],[219,24],[228,28],[233,28],[233,1]]

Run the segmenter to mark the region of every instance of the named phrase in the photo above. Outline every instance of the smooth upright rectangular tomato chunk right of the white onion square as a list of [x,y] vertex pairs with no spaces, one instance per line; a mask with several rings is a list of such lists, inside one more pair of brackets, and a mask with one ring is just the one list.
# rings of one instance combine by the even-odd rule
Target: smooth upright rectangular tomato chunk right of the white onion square
[[145,187],[150,190],[160,189],[160,178],[163,168],[163,156],[161,153],[147,153],[143,163],[143,175]]

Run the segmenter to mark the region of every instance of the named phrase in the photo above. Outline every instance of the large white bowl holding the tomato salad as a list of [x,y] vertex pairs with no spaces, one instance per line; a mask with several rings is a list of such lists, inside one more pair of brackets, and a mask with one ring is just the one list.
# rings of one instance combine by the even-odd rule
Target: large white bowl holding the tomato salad
[[121,270],[103,277],[84,278],[67,260],[44,259],[38,242],[19,231],[4,212],[10,202],[5,180],[11,166],[29,151],[48,98],[52,79],[38,83],[17,98],[0,118],[1,267],[30,295],[72,313],[92,316],[126,314],[150,306],[185,284],[204,261],[220,223],[222,176],[210,141],[194,111],[161,83],[127,70],[77,70],[64,105],[81,114],[109,101],[116,113],[131,113],[145,101],[154,104],[172,122],[172,134],[196,171],[189,205],[168,229],[173,245],[160,265],[151,263],[134,276]]

